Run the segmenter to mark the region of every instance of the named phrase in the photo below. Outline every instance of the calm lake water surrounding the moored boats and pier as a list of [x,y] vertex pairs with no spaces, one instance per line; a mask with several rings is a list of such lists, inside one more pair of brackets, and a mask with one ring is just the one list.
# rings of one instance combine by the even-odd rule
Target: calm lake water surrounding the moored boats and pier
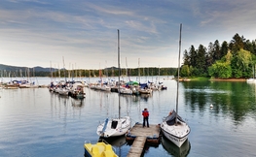
[[[121,114],[131,116],[132,124],[142,122],[144,108],[150,111],[151,124],[161,123],[175,109],[176,81],[163,78],[167,90],[149,97],[121,96]],[[49,84],[50,78],[38,82]],[[178,148],[163,139],[147,147],[145,157],[256,156],[255,84],[189,81],[179,87],[178,112],[191,127],[188,141]],[[84,156],[84,142],[98,141],[99,122],[119,112],[117,93],[85,91],[86,98],[78,101],[48,88],[0,89],[0,156]],[[119,156],[127,156],[125,138],[109,142]]]

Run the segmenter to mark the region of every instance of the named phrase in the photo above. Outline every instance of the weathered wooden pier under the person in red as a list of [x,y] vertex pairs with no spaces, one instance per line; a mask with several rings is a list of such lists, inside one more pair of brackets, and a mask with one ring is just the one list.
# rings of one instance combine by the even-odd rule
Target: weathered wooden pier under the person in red
[[145,143],[158,145],[160,143],[160,125],[151,124],[148,127],[142,127],[141,123],[136,123],[126,136],[128,142],[132,142],[128,157],[140,157],[143,153]]

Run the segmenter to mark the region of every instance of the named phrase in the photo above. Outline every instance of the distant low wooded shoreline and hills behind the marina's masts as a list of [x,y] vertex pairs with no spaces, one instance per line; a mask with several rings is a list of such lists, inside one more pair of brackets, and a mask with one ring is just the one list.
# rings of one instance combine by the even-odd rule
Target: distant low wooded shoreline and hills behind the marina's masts
[[[122,76],[174,76],[177,68],[135,68],[121,69]],[[66,70],[42,67],[15,67],[0,64],[1,78],[27,78],[27,77],[53,77],[76,78],[76,77],[118,77],[119,70],[116,67],[102,70]]]

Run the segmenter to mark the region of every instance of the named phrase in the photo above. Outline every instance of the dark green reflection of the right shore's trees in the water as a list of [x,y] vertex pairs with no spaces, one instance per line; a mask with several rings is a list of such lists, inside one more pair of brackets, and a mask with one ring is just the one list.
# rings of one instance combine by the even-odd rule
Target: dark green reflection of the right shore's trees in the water
[[255,84],[231,81],[182,82],[184,102],[192,111],[204,112],[212,104],[211,112],[231,116],[234,123],[255,113]]

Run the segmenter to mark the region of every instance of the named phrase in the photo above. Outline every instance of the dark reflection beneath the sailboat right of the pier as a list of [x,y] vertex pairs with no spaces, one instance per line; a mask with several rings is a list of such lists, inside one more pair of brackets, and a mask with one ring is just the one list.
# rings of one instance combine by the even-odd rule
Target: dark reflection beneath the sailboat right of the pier
[[162,137],[162,145],[170,155],[179,157],[187,156],[191,147],[189,140],[185,141],[180,147],[178,147],[165,137]]

